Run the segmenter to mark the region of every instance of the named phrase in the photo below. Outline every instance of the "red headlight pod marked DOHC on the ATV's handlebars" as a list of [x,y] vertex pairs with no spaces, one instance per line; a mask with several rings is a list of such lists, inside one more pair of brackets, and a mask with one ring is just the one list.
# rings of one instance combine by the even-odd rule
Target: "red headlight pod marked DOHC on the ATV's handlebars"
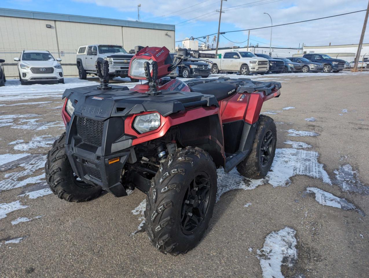
[[[149,62],[149,64],[151,64],[153,61],[158,64],[158,79],[168,75],[172,71],[168,70],[168,68],[172,66],[173,62],[169,55],[168,48],[144,47],[132,57],[130,67],[128,69],[128,76],[135,79],[146,79],[144,62]],[[150,69],[152,70],[151,67]]]

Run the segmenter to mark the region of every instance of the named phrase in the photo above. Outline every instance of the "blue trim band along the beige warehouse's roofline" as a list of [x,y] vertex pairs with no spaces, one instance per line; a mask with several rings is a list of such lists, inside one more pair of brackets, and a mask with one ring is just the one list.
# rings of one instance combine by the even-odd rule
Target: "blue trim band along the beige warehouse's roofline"
[[123,27],[135,27],[135,28],[147,28],[175,31],[175,25],[161,24],[161,23],[149,23],[142,21],[121,20],[103,17],[88,17],[88,16],[76,16],[72,14],[56,14],[56,13],[44,13],[41,11],[25,11],[14,10],[7,8],[0,8],[0,16],[7,17],[22,17],[22,18],[34,18],[42,20],[57,20],[57,21],[69,21],[79,23],[92,23],[92,24],[104,24]]

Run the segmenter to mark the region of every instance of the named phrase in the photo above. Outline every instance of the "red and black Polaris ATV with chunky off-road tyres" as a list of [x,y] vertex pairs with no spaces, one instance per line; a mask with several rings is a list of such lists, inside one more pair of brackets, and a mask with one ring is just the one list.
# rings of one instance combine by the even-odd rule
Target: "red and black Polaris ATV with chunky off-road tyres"
[[276,126],[259,115],[263,102],[280,95],[280,83],[250,79],[166,77],[182,62],[165,47],[137,47],[132,89],[108,85],[107,61],[97,61],[101,85],[67,89],[66,132],[45,164],[46,180],[69,202],[116,197],[127,189],[146,194],[146,231],[163,253],[193,248],[213,214],[217,168],[259,179],[269,171]]

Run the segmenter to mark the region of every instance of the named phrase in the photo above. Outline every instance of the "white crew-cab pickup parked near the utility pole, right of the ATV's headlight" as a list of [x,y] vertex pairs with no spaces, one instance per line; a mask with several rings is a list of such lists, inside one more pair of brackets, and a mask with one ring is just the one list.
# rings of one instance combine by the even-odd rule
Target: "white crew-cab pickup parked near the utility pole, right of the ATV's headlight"
[[221,58],[207,58],[213,62],[211,73],[220,71],[239,72],[242,75],[250,73],[264,74],[269,71],[268,59],[255,56],[247,51],[225,52]]

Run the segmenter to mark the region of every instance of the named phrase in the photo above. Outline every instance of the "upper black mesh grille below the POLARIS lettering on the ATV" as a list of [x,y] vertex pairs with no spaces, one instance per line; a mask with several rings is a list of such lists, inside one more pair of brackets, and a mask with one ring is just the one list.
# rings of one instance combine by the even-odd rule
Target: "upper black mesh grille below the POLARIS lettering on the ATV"
[[103,141],[104,122],[78,117],[77,133],[83,142],[100,147]]

